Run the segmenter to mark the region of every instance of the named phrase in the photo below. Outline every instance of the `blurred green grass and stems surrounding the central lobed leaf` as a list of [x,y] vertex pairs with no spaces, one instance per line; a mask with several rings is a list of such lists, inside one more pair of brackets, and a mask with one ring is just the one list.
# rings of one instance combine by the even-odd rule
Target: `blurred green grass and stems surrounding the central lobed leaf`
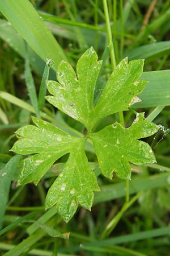
[[[170,255],[170,1],[31,2],[40,18],[26,0],[0,3],[0,255]],[[142,77],[150,83],[139,96],[142,102],[133,109],[144,111],[147,119],[162,125],[155,137],[146,140],[158,163],[131,166],[129,184],[116,175],[112,180],[100,175],[101,192],[95,193],[91,212],[79,208],[66,224],[55,208],[45,212],[44,200],[67,156],[54,164],[37,187],[16,187],[19,157],[9,150],[16,141],[16,129],[30,123],[36,112],[34,97],[39,93],[46,58],[54,60],[49,77],[56,80],[61,59],[75,68],[82,53],[93,46],[99,59],[104,60],[97,99],[113,67],[109,20],[116,63],[125,56],[129,60],[145,59]],[[31,65],[36,90],[28,86],[27,79],[32,78],[25,63]],[[80,123],[47,102],[41,117],[62,129],[83,131]],[[118,114],[109,116],[97,129],[121,118]],[[124,113],[126,127],[133,119],[133,112]],[[88,148],[87,156],[97,175],[96,156]],[[63,240],[69,232],[70,239]]]

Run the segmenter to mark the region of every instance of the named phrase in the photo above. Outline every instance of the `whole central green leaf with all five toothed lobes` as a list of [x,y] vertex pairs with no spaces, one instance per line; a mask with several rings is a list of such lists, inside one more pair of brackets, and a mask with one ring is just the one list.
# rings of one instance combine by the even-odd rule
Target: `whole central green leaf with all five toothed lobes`
[[101,68],[97,54],[91,47],[80,57],[74,69],[62,61],[58,67],[56,81],[48,81],[48,90],[53,96],[46,96],[51,104],[62,112],[83,123],[87,135],[73,137],[58,127],[33,117],[35,125],[28,125],[16,131],[18,141],[12,151],[29,155],[22,161],[18,184],[33,181],[37,184],[49,168],[61,156],[69,153],[63,170],[49,188],[46,208],[56,204],[65,221],[73,217],[78,205],[91,209],[94,191],[99,191],[96,176],[91,170],[84,151],[84,143],[90,138],[104,176],[112,178],[113,172],[122,179],[130,179],[130,163],[154,163],[151,147],[138,139],[155,134],[159,126],[148,122],[144,113],[137,113],[129,128],[114,123],[103,130],[92,133],[92,129],[102,118],[120,110],[128,110],[139,101],[147,81],[139,80],[143,70],[143,60],[128,63],[125,58],[117,65],[104,87],[103,93],[94,107],[94,90]]

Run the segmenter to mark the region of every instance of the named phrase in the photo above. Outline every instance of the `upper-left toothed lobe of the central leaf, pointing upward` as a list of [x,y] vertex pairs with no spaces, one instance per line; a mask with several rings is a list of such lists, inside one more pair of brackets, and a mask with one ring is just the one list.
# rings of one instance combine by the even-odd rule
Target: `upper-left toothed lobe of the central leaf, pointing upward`
[[53,96],[46,96],[46,100],[88,129],[94,119],[94,90],[100,68],[101,61],[97,61],[92,47],[80,57],[76,73],[70,64],[62,61],[57,70],[58,82],[47,82]]

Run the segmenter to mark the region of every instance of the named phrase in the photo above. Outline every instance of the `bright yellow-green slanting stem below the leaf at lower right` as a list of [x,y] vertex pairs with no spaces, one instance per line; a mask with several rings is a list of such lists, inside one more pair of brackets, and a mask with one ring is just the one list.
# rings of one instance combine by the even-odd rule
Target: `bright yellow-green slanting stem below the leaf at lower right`
[[118,221],[120,221],[122,215],[124,212],[141,196],[143,191],[139,192],[137,195],[135,195],[130,201],[125,203],[121,210],[116,214],[116,216],[109,222],[107,227],[104,229],[104,232],[101,234],[101,239],[104,239],[105,237],[108,237],[109,234],[113,231],[113,229],[116,227],[118,224]]

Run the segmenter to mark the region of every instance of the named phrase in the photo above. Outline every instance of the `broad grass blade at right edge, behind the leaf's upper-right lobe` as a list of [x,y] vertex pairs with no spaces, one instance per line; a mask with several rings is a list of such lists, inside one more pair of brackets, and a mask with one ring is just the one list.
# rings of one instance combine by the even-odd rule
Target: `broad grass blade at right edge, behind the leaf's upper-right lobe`
[[133,105],[133,108],[150,108],[156,106],[170,105],[170,86],[169,86],[170,70],[144,72],[141,79],[150,82],[139,98],[142,100]]

